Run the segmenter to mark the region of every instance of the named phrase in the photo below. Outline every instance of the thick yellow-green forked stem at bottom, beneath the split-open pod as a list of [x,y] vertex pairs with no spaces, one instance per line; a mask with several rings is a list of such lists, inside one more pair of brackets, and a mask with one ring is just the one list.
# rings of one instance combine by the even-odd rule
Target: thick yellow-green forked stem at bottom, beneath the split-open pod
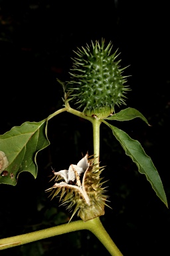
[[122,253],[116,247],[106,230],[104,229],[99,218],[92,219],[90,221],[73,221],[70,223],[62,224],[56,227],[50,227],[48,229],[42,229],[40,231],[34,231],[24,235],[16,235],[15,237],[8,237],[0,239],[0,249],[7,249],[15,247],[17,245],[24,245],[25,243],[31,243],[48,237],[54,237],[55,235],[62,235],[73,231],[87,229],[91,231],[101,241],[101,243],[108,249],[111,255],[121,256]]

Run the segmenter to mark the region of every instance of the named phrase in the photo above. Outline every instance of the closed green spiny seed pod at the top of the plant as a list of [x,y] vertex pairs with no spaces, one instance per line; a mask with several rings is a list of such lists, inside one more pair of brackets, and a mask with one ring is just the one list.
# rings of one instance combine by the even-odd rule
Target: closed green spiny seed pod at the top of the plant
[[70,101],[83,107],[85,115],[96,115],[98,118],[108,117],[114,112],[115,105],[126,104],[124,95],[128,91],[125,86],[126,77],[122,75],[125,68],[120,69],[120,61],[116,61],[117,51],[110,55],[112,43],[104,47],[92,42],[90,47],[78,48],[77,57],[73,59],[70,69],[71,81],[67,88],[70,91]]

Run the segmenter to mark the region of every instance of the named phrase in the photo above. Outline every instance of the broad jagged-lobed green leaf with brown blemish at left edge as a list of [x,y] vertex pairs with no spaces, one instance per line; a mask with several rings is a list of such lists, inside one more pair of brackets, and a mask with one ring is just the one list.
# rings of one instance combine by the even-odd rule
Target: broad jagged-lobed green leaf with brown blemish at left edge
[[9,162],[5,168],[7,176],[3,176],[1,170],[0,183],[16,185],[22,171],[28,171],[37,177],[37,153],[50,144],[46,125],[46,119],[25,122],[0,135],[0,151],[5,153]]

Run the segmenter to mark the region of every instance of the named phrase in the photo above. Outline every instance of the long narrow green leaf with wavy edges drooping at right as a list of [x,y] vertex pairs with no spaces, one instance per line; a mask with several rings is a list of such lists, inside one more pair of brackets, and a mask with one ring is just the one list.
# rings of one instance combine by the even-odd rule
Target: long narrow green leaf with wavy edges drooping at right
[[167,197],[165,195],[159,173],[153,165],[151,158],[146,155],[139,141],[131,139],[126,132],[118,129],[118,127],[113,125],[109,126],[112,129],[116,139],[118,139],[123,149],[126,151],[126,155],[131,157],[132,161],[137,165],[139,173],[145,174],[159,199],[161,199],[161,201],[163,201],[163,203],[165,203],[165,205],[168,207]]

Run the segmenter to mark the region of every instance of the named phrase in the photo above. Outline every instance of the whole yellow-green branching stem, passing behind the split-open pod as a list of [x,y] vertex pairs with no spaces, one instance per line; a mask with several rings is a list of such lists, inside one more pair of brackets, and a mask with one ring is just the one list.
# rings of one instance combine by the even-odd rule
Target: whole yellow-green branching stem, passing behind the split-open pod
[[[68,113],[72,113],[73,115],[86,119],[92,123],[95,164],[99,165],[100,124],[102,122],[96,119],[95,117],[88,117],[84,115],[82,112],[72,109],[68,103],[66,103],[66,107],[64,107],[63,109],[59,109],[58,111],[55,111],[54,113],[49,115],[47,118],[47,121],[64,111],[67,111]],[[59,225],[57,227],[51,227],[48,229],[42,229],[40,231],[27,233],[24,235],[17,235],[15,237],[0,239],[0,249],[7,249],[10,247],[15,247],[17,245],[24,245],[25,243],[31,243],[33,241],[38,241],[40,239],[54,237],[55,235],[62,235],[64,233],[69,233],[72,231],[78,231],[82,229],[88,229],[89,231],[94,233],[94,235],[96,235],[96,237],[101,241],[104,247],[108,249],[111,255],[113,256],[122,255],[118,247],[116,247],[115,243],[112,241],[112,239],[104,229],[102,223],[100,222],[99,217],[95,219],[91,219],[90,221],[86,221],[86,222],[73,221],[67,224]]]

